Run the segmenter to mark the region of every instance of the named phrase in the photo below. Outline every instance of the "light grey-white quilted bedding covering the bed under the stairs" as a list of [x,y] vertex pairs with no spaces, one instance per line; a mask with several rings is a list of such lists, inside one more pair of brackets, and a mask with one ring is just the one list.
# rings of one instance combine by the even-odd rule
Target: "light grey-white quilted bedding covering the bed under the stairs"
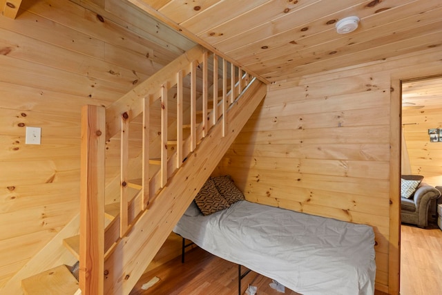
[[173,231],[300,294],[374,294],[367,225],[240,201],[209,216],[184,215]]

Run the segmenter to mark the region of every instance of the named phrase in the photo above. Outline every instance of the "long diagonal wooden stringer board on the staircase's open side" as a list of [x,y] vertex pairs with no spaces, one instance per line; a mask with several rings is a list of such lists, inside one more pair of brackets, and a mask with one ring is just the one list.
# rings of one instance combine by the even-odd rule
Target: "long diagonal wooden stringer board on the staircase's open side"
[[[222,159],[244,124],[267,93],[256,81],[227,112],[222,137],[218,122],[104,262],[104,294],[129,294],[175,227],[196,193]],[[222,119],[221,119],[222,120]]]

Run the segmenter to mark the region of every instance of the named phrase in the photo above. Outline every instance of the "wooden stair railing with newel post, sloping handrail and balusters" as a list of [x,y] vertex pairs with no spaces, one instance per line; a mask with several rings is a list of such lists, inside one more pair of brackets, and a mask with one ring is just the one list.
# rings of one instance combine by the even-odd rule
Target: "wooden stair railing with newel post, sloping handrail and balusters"
[[[82,117],[81,144],[81,220],[85,220],[81,231],[80,245],[83,245],[81,263],[84,275],[81,276],[80,288],[83,294],[102,294],[104,255],[111,255],[118,242],[131,231],[137,218],[149,208],[150,202],[159,191],[166,187],[169,178],[195,151],[204,137],[210,135],[215,124],[222,124],[222,136],[227,132],[227,112],[232,104],[247,89],[249,74],[244,73],[228,61],[209,53],[200,46],[195,46],[181,57],[175,59],[158,73],[142,82],[132,91],[104,110],[100,106],[85,106]],[[221,66],[221,68],[218,68]],[[220,73],[219,73],[220,72]],[[209,86],[209,75],[213,74],[213,84]],[[238,74],[237,74],[238,73]],[[222,77],[220,77],[222,75]],[[189,79],[189,109],[184,109],[184,84]],[[186,83],[184,83],[186,81]],[[222,98],[218,100],[218,83],[222,84]],[[176,87],[177,115],[176,132],[171,132],[169,118],[169,96],[171,88]],[[213,88],[213,106],[209,110],[209,88]],[[198,97],[198,95],[201,95]],[[149,137],[149,120],[151,105],[160,99],[161,130],[158,140]],[[198,102],[198,104],[197,104]],[[202,106],[202,119],[197,120],[197,106]],[[142,114],[142,169],[140,187],[142,188],[131,198],[128,191],[131,180],[128,175],[129,164],[129,133],[135,117]],[[188,121],[188,122],[187,122]],[[190,135],[184,138],[185,124],[190,124]],[[109,231],[104,234],[104,155],[105,142],[119,133],[120,140],[120,192],[119,216],[109,225]],[[176,135],[176,140],[170,140],[169,134]],[[172,135],[171,135],[172,136]],[[84,142],[83,142],[84,140]],[[153,162],[149,155],[154,142],[160,146],[155,148],[160,155],[160,168],[149,179],[149,163]],[[174,153],[170,153],[170,144],[176,144]],[[137,184],[138,185],[138,184]],[[132,195],[133,196],[133,195]],[[131,199],[130,199],[131,198]],[[101,220],[101,221],[100,221]],[[98,293],[97,293],[98,292]],[[101,293],[100,293],[101,292]]]

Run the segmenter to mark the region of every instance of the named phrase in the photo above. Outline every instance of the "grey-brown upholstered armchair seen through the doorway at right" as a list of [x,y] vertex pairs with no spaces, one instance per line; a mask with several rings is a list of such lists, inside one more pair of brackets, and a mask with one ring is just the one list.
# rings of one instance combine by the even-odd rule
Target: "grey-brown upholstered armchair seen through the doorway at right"
[[[423,177],[419,175],[402,175],[402,178],[416,180]],[[441,196],[441,193],[435,187],[421,182],[410,198],[401,198],[401,222],[410,223],[422,228],[427,227],[428,210],[431,203],[436,202],[439,196]]]

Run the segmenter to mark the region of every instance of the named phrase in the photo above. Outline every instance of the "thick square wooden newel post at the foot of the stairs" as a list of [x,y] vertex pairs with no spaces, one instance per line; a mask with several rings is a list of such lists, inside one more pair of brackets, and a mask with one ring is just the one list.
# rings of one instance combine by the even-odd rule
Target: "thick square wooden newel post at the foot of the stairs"
[[80,268],[82,295],[104,292],[104,186],[106,111],[81,108]]

